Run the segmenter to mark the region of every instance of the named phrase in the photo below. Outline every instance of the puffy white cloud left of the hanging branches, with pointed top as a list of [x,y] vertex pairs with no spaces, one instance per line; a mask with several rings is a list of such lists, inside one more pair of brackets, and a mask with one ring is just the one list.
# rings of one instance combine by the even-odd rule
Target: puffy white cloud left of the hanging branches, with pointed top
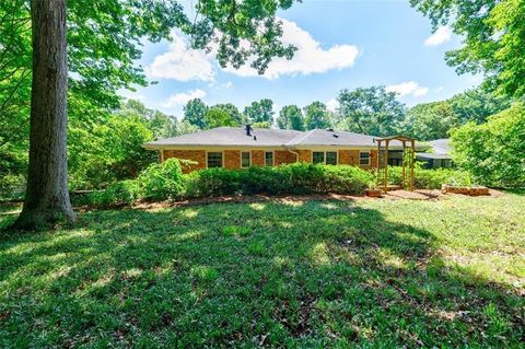
[[155,57],[147,73],[150,78],[177,81],[213,81],[214,70],[203,50],[192,49],[178,33],[172,33],[168,51]]

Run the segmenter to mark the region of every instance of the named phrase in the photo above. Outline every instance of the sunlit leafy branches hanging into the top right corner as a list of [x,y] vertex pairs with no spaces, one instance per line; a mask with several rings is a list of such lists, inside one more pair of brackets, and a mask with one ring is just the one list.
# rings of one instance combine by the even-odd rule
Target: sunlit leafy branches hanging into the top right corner
[[429,16],[434,30],[450,25],[464,46],[448,51],[446,61],[458,73],[483,72],[485,85],[498,92],[525,95],[524,0],[410,0]]

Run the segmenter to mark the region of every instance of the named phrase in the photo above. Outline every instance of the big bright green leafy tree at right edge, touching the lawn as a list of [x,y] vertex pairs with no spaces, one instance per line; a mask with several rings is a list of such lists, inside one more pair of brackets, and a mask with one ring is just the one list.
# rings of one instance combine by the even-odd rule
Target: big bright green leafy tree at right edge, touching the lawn
[[481,184],[524,187],[524,139],[525,105],[516,103],[486,124],[469,121],[453,130],[454,161]]

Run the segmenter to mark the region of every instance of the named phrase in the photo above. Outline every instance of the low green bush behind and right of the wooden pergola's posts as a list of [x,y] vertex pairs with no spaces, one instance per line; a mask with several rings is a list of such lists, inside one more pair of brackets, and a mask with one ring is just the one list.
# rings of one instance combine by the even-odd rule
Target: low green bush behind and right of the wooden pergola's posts
[[[399,166],[388,167],[388,182],[401,185],[402,168]],[[407,181],[408,181],[408,168]],[[381,183],[382,178],[378,178]],[[413,186],[417,189],[441,189],[443,184],[469,185],[470,177],[466,172],[454,168],[424,170],[417,165],[413,168]]]

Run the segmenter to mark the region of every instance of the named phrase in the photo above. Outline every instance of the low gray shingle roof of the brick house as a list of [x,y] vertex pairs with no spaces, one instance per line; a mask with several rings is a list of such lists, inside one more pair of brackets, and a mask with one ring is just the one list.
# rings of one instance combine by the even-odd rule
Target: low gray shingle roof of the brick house
[[[254,138],[255,136],[255,138]],[[315,129],[311,131],[294,131],[282,129],[254,129],[252,137],[241,127],[218,127],[210,130],[199,131],[190,135],[183,135],[174,138],[161,139],[144,143],[147,149],[165,147],[190,147],[190,146],[213,146],[213,147],[377,147],[374,136]],[[400,147],[399,141],[392,141],[390,147]],[[421,149],[422,144],[418,144]],[[428,148],[428,147],[423,147]]]

